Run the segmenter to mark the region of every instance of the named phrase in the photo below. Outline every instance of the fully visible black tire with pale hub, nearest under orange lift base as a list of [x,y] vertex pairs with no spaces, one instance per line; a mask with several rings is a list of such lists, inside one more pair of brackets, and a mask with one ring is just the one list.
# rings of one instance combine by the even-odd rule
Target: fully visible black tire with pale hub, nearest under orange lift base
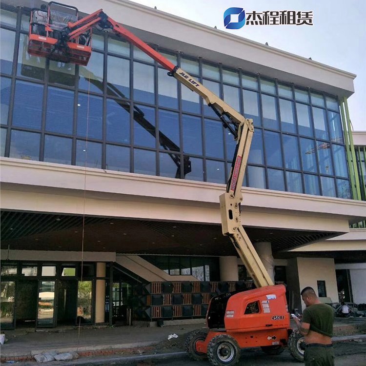
[[214,366],[235,365],[240,359],[238,342],[227,334],[220,334],[211,339],[207,346],[208,361]]

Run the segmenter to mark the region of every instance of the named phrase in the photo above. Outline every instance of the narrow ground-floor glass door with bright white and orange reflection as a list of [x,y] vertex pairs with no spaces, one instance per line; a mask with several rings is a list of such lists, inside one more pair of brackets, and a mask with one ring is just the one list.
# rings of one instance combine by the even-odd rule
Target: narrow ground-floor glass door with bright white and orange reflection
[[40,281],[38,286],[37,326],[55,326],[56,281]]

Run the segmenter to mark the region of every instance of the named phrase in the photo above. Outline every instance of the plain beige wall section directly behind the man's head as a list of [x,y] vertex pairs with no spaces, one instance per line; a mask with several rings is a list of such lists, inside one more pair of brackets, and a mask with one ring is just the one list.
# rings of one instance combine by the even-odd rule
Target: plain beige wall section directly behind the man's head
[[[326,296],[338,302],[337,279],[333,258],[297,258],[300,291],[313,287],[318,294],[317,281],[325,281]],[[305,304],[302,303],[303,309]]]

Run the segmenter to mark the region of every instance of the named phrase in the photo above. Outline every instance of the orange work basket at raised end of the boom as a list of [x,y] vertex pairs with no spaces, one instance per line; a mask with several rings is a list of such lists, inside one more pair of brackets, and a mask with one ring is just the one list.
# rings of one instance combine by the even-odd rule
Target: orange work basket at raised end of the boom
[[54,61],[86,65],[91,55],[92,30],[67,40],[68,25],[79,18],[74,6],[55,1],[47,8],[32,9],[29,24],[28,53]]

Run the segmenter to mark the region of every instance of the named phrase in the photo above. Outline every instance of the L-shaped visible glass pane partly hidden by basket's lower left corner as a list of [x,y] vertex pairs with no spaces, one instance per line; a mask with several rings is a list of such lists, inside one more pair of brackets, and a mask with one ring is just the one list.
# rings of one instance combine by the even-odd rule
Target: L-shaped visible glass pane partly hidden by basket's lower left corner
[[28,53],[28,36],[20,33],[17,75],[43,80],[45,60],[44,57],[31,56]]

